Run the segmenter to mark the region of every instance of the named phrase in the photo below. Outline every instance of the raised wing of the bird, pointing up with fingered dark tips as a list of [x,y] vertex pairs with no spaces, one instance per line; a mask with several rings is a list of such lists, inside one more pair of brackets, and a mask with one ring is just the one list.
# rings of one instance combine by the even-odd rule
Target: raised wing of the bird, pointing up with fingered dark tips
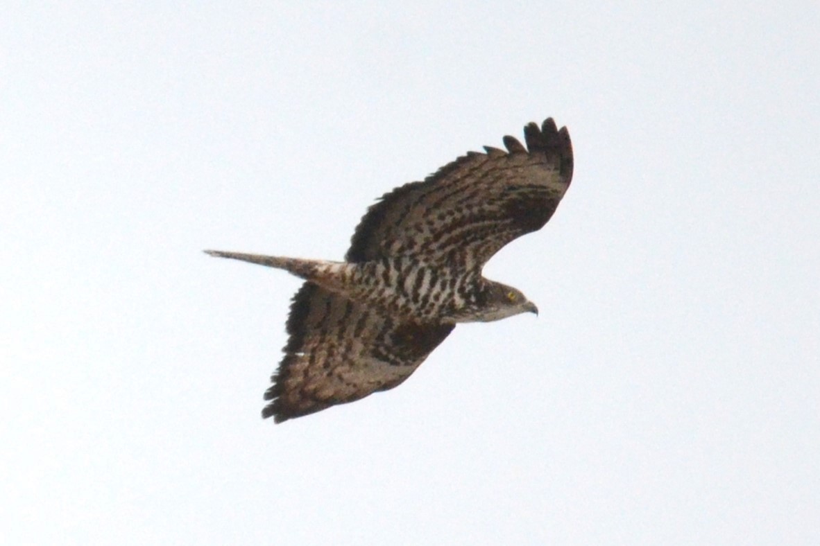
[[353,234],[346,259],[412,255],[481,268],[502,246],[544,226],[572,180],[572,143],[552,118],[524,128],[526,148],[485,147],[381,197]]

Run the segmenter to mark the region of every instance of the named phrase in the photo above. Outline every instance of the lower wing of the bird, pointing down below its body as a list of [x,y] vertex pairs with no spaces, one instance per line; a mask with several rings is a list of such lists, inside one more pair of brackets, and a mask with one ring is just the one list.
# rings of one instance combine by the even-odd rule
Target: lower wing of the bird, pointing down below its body
[[262,417],[282,422],[392,389],[453,327],[401,323],[305,282],[290,306],[285,357]]

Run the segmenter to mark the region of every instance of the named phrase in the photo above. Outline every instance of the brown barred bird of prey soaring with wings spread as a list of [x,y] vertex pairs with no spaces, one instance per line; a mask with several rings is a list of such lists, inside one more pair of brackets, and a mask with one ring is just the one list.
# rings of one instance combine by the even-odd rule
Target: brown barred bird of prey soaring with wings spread
[[484,147],[385,193],[353,232],[344,261],[204,250],[303,279],[262,417],[285,422],[399,386],[458,323],[538,314],[484,278],[503,246],[553,216],[572,182],[572,142],[552,118],[524,144]]

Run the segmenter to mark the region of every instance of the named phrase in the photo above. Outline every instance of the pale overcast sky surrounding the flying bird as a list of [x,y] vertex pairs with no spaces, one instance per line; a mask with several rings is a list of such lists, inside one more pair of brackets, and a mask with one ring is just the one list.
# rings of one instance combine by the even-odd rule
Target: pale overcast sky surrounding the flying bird
[[[817,2],[71,3],[0,20],[7,544],[820,542]],[[201,250],[548,116],[540,316],[263,421],[299,281]]]

